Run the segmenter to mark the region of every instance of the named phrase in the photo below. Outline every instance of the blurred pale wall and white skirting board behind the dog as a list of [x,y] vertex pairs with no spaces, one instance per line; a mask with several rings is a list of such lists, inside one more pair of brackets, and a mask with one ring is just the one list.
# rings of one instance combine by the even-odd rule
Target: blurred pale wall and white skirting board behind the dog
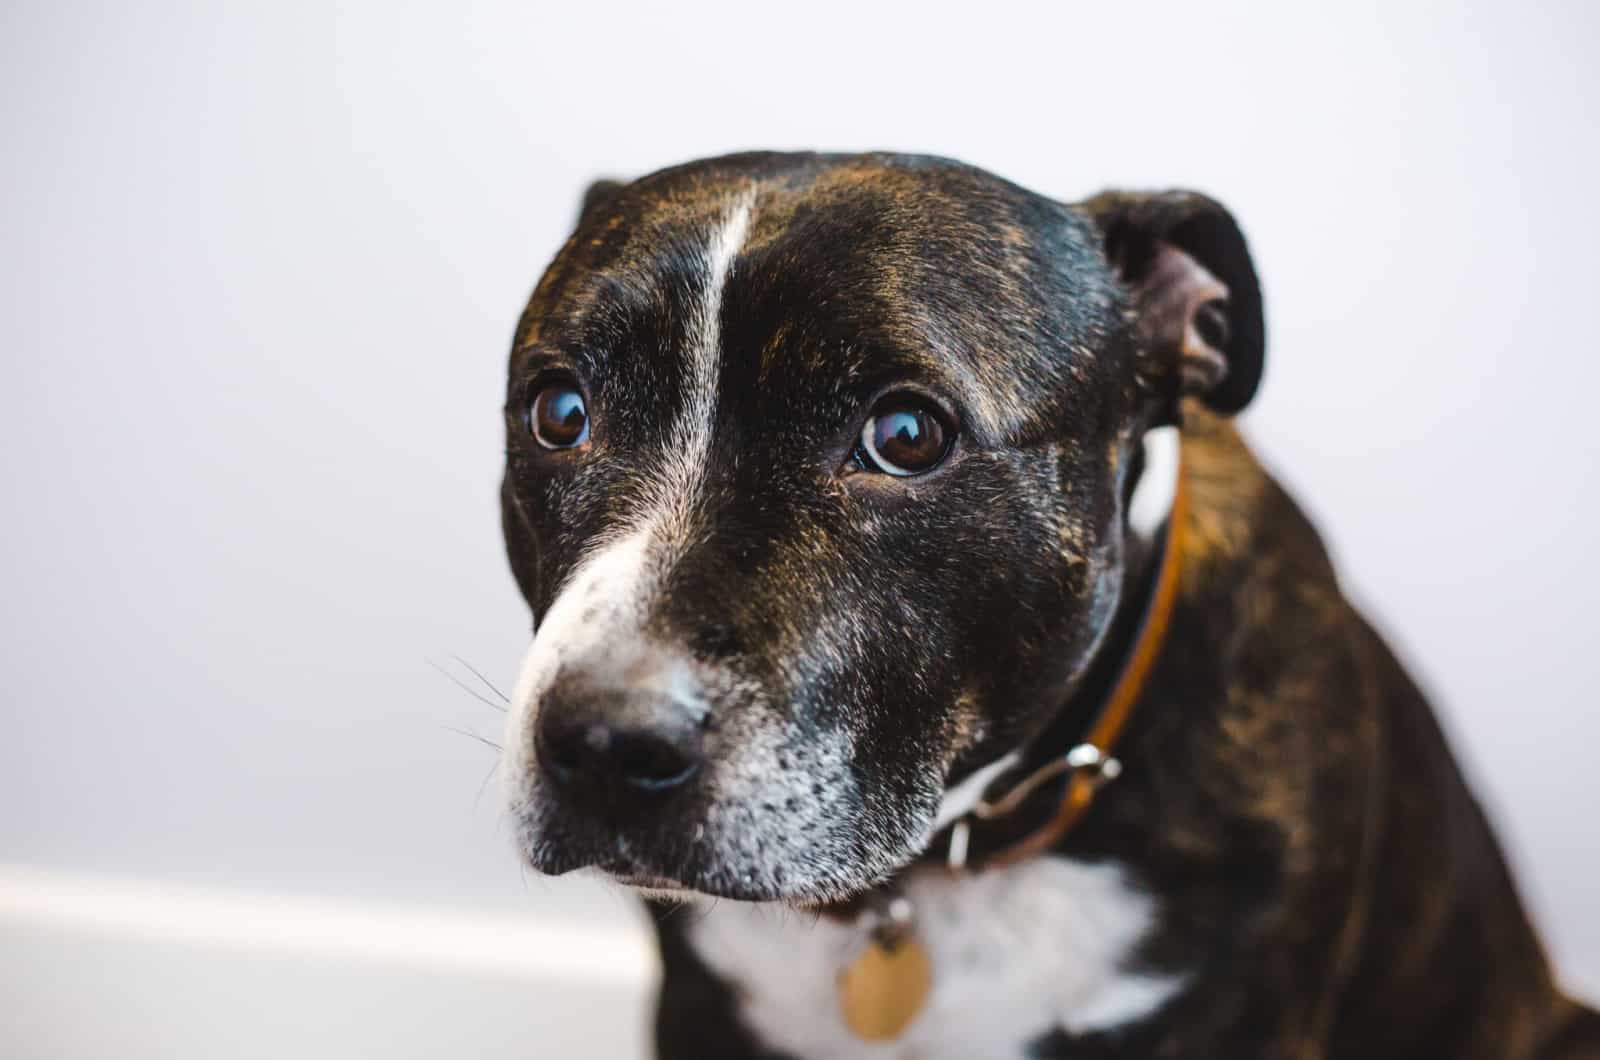
[[1597,29],[6,3],[6,1055],[642,1055],[634,903],[518,871],[474,738],[501,716],[469,668],[506,689],[528,640],[502,362],[590,178],[746,147],[1229,203],[1270,331],[1246,431],[1600,998]]

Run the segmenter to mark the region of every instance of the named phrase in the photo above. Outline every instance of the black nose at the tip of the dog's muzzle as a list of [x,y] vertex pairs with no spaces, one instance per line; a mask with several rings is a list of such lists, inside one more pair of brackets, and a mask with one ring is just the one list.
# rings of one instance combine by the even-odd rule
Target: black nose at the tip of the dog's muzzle
[[565,690],[539,705],[534,749],[565,788],[661,793],[699,772],[701,727],[659,692]]

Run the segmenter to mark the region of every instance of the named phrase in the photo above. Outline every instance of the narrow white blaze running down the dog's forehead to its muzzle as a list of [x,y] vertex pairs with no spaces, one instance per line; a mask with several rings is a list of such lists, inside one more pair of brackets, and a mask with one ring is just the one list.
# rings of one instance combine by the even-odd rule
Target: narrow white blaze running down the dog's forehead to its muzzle
[[754,191],[742,194],[707,231],[706,285],[683,346],[683,410],[667,436],[661,472],[650,482],[643,509],[627,520],[630,528],[622,536],[579,560],[539,621],[523,658],[506,719],[506,778],[512,785],[518,785],[531,765],[526,732],[539,697],[563,660],[603,665],[605,653],[629,653],[637,645],[651,597],[688,536],[717,415],[722,293],[749,232],[754,200]]

